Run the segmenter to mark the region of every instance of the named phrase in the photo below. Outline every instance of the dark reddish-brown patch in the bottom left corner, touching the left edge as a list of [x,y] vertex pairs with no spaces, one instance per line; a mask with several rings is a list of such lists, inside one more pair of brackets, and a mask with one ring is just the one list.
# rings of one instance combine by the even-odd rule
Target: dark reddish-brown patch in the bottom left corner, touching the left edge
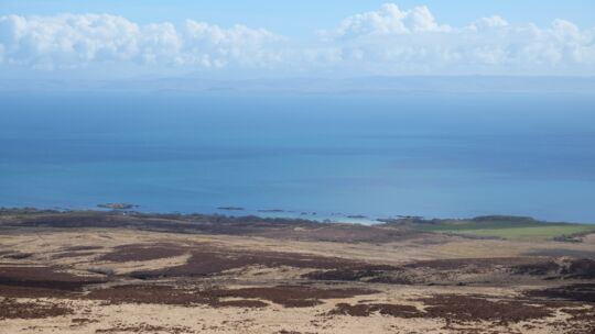
[[73,314],[73,310],[64,304],[51,302],[18,302],[6,298],[0,302],[0,320],[4,319],[40,319]]

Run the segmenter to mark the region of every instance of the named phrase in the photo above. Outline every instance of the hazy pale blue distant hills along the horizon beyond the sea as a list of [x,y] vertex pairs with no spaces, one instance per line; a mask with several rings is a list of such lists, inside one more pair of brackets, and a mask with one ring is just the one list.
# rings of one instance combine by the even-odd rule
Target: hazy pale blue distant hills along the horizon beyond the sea
[[580,93],[595,92],[595,77],[357,77],[217,80],[197,77],[117,80],[0,79],[1,92],[275,92],[275,93]]

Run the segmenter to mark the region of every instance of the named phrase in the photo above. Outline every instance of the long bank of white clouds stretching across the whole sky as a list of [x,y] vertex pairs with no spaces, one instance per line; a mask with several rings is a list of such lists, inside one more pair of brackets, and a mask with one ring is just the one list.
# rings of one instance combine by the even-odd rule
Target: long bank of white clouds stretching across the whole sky
[[145,73],[237,69],[335,75],[595,75],[595,27],[555,20],[513,25],[500,16],[465,26],[430,9],[386,3],[345,18],[309,41],[264,29],[138,24],[109,14],[0,16],[0,68],[89,69],[133,65]]

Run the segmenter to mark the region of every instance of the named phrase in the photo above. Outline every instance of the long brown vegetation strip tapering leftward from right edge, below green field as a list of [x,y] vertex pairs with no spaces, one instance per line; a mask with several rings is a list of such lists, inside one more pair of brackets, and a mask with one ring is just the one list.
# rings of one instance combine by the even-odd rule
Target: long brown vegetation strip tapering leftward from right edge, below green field
[[595,260],[586,258],[459,258],[421,260],[402,266],[351,265],[315,270],[312,280],[393,285],[515,285],[519,281],[591,279]]

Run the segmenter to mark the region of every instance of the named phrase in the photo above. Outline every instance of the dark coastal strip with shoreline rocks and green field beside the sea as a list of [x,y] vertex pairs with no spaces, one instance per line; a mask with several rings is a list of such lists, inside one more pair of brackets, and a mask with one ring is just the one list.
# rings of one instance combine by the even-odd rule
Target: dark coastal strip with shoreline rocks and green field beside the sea
[[[116,209],[113,209],[116,208]],[[121,208],[121,209],[118,209]],[[548,222],[530,216],[483,215],[466,219],[425,219],[423,216],[393,216],[364,221],[361,216],[338,216],[334,220],[322,215],[285,215],[284,211],[270,209],[250,214],[238,207],[224,207],[216,213],[155,213],[138,211],[138,205],[112,203],[87,210],[1,208],[0,224],[15,220],[15,226],[48,227],[115,227],[148,231],[185,233],[245,233],[246,235],[268,235],[274,237],[320,240],[316,233],[340,242],[370,241],[387,242],[407,235],[455,235],[465,238],[493,238],[510,241],[559,241],[581,243],[584,237],[595,234],[595,224]],[[133,209],[133,210],[132,210]],[[272,212],[269,212],[272,211]],[[290,212],[291,213],[291,212]],[[367,218],[366,218],[367,219]],[[368,223],[371,222],[371,223]],[[13,222],[14,223],[14,222]],[[1,226],[1,225],[0,225]],[[4,225],[6,226],[6,225]],[[348,236],[344,235],[348,232]],[[281,233],[283,232],[283,233]]]

